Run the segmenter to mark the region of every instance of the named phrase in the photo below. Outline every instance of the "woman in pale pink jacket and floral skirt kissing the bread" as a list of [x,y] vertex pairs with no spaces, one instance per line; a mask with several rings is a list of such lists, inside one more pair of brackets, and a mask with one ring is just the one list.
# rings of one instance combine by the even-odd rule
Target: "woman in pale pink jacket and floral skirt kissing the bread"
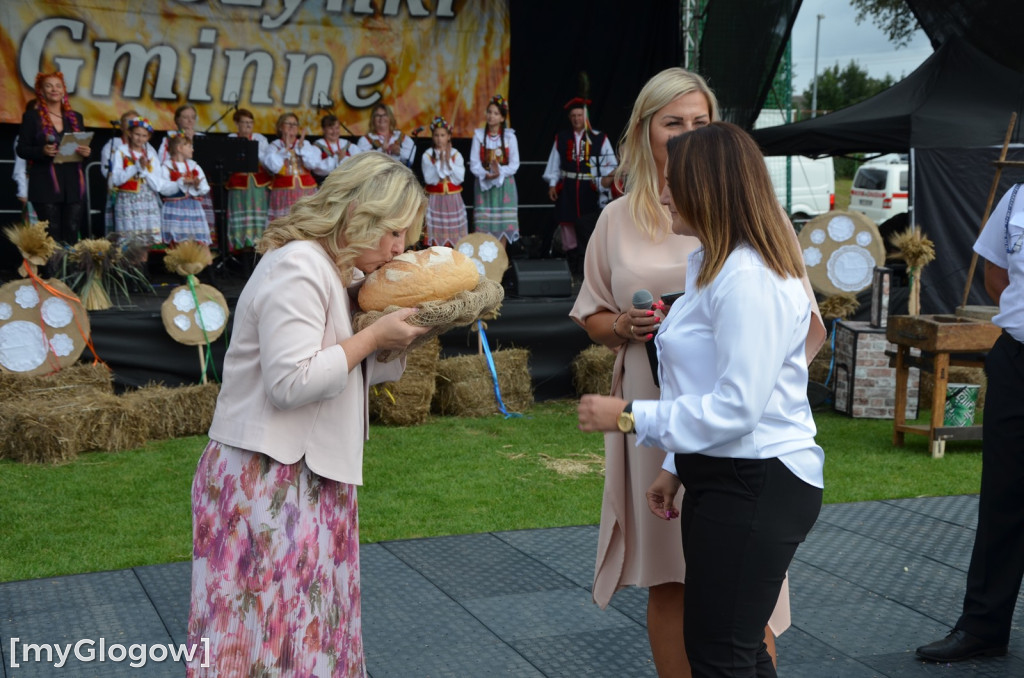
[[367,393],[404,369],[376,352],[401,351],[428,328],[408,324],[407,308],[355,332],[346,288],[419,239],[426,207],[409,168],[364,154],[260,241],[193,480],[190,678],[366,675],[356,486]]

